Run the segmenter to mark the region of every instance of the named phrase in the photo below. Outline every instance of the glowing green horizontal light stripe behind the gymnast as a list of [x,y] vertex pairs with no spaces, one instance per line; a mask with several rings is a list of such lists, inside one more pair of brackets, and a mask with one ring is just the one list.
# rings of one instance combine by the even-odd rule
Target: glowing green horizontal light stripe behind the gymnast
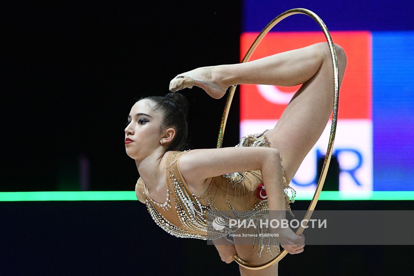
[[[313,192],[301,192],[295,200],[312,200]],[[0,201],[137,200],[135,191],[46,191],[0,192]],[[349,193],[322,191],[319,200],[414,200],[414,191]]]

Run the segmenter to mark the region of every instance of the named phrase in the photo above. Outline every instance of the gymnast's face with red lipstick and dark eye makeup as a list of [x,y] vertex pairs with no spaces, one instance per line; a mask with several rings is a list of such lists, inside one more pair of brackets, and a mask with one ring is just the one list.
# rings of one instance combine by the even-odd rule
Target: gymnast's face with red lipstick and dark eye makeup
[[125,139],[133,142],[125,144],[127,155],[134,159],[147,157],[154,149],[161,146],[161,112],[149,108],[149,100],[136,102],[128,116],[128,126],[125,128]]

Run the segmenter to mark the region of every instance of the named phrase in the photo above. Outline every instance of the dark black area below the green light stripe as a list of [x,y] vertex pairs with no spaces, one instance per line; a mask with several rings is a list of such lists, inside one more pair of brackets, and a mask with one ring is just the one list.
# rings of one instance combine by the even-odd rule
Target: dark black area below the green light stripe
[[[319,201],[317,208],[413,210],[413,203]],[[309,204],[295,201],[292,208]],[[238,264],[221,261],[214,245],[162,230],[138,201],[0,202],[0,210],[0,275],[240,275]],[[398,223],[390,235],[404,227]],[[287,254],[278,270],[280,276],[410,275],[412,248],[305,245],[302,253]]]

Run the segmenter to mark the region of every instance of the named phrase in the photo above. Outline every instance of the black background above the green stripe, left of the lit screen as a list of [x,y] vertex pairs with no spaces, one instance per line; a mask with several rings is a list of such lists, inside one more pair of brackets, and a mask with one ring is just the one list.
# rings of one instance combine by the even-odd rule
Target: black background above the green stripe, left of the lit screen
[[[239,62],[239,1],[24,2],[2,10],[0,191],[71,190],[79,156],[94,191],[133,190],[125,153],[135,99],[200,66]],[[227,95],[181,90],[192,148],[215,148]],[[223,146],[238,143],[238,91]],[[76,185],[75,185],[76,186]]]

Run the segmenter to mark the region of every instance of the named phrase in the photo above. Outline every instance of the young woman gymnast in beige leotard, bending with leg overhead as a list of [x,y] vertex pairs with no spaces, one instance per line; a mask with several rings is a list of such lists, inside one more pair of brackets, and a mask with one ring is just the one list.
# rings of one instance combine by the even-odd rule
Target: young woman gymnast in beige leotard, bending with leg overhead
[[[335,44],[335,49],[340,86],[347,59],[339,45]],[[226,235],[235,230],[225,223],[218,229],[217,220],[216,224],[212,220],[214,215],[224,220],[232,215],[257,219],[256,214],[264,215],[269,210],[290,211],[293,198],[287,196],[285,188],[291,189],[290,179],[330,118],[332,80],[327,43],[177,75],[170,82],[172,93],[138,100],[128,116],[125,150],[135,159],[140,174],[135,186],[137,199],[171,235],[213,240],[226,263],[238,254],[252,264],[262,264],[280,252],[279,242],[290,254],[303,252],[303,235],[296,235],[290,228],[272,230],[280,235],[274,248],[270,248],[272,239],[268,238],[266,252],[270,254],[262,254],[263,240],[252,251],[245,237],[228,240]],[[196,85],[219,99],[227,87],[236,84],[303,85],[273,129],[247,135],[236,147],[188,150],[188,102],[176,91]],[[267,197],[262,196],[263,186]],[[254,243],[255,237],[251,241]],[[277,264],[259,271],[240,267],[240,271],[241,275],[277,275]]]

